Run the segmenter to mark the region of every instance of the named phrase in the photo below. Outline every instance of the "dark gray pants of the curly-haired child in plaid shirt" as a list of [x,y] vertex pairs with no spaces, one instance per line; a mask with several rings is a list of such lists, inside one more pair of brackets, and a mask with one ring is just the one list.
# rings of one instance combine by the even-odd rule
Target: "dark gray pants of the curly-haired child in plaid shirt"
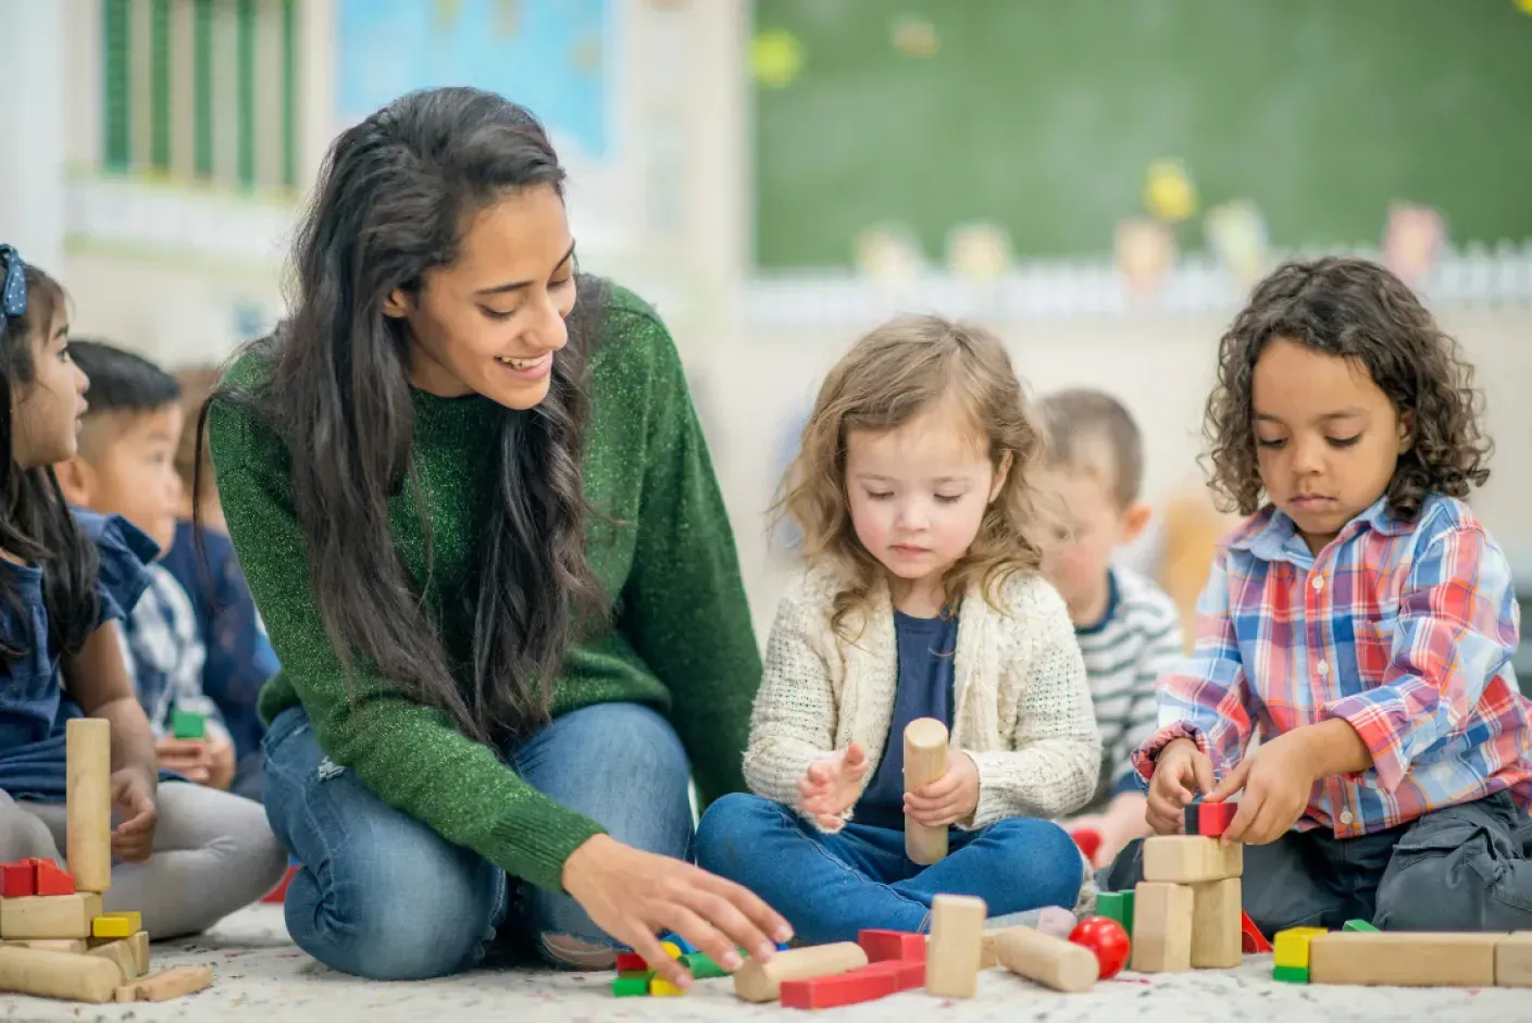
[[[1241,900],[1268,937],[1347,920],[1390,931],[1527,930],[1527,842],[1532,827],[1504,792],[1359,838],[1288,832],[1246,845]],[[1141,845],[1132,842],[1097,874],[1102,891],[1138,884]]]

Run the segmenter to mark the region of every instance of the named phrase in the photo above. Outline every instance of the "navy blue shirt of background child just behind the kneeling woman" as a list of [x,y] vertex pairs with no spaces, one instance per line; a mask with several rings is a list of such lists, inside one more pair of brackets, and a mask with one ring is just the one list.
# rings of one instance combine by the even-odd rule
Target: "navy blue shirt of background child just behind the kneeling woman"
[[277,674],[277,654],[260,625],[250,585],[239,571],[234,544],[216,530],[202,530],[207,568],[198,565],[196,527],[176,525],[176,539],[159,565],[176,577],[192,597],[198,632],[207,648],[202,662],[202,692],[224,715],[224,727],[239,758],[260,749],[267,734],[256,698],[260,686]]

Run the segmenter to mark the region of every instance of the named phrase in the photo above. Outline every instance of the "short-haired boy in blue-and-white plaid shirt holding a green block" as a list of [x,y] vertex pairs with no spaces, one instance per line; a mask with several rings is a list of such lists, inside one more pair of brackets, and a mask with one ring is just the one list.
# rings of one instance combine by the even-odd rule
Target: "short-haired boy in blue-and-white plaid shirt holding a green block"
[[[69,346],[90,380],[90,409],[74,458],[55,467],[64,496],[98,515],[118,515],[159,551],[175,539],[181,478],[181,386],[133,352],[101,342]],[[158,551],[156,551],[158,556]],[[205,651],[192,599],[175,576],[147,567],[150,585],[123,620],[124,660],[138,701],[155,730],[159,766],[190,781],[227,789],[234,778],[234,744],[218,706],[202,694]],[[202,738],[176,738],[173,712],[202,718]]]

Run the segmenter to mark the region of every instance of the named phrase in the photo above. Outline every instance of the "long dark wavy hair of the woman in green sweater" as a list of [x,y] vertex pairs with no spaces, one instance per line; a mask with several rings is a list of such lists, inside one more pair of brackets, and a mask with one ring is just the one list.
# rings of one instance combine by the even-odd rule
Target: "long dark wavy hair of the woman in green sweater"
[[[605,288],[579,282],[547,398],[501,415],[496,464],[486,467],[495,499],[478,596],[461,610],[473,620],[472,665],[450,663],[440,622],[429,620],[394,548],[388,501],[409,485],[432,559],[411,461],[406,328],[383,315],[383,300],[395,288],[418,291],[426,271],[450,265],[484,205],[522,188],[562,193],[562,182],[542,126],[490,92],[414,92],[345,132],[294,245],[293,315],[256,343],[270,381],[254,394],[214,391],[198,421],[201,446],[213,404],[236,404],[286,441],[314,596],[348,672],[355,655],[374,662],[481,741],[547,720],[564,651],[599,606],[579,459],[584,377]],[[455,671],[470,671],[470,685]]]

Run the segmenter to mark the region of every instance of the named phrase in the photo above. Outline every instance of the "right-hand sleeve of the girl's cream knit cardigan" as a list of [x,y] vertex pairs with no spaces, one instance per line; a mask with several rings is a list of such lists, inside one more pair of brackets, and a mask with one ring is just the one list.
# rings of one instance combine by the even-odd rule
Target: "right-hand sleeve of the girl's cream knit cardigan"
[[979,829],[1010,816],[1057,818],[1079,810],[1102,772],[1085,660],[1063,599],[1040,579],[1007,587],[1002,686],[1016,689],[1010,749],[968,752],[979,767]]

